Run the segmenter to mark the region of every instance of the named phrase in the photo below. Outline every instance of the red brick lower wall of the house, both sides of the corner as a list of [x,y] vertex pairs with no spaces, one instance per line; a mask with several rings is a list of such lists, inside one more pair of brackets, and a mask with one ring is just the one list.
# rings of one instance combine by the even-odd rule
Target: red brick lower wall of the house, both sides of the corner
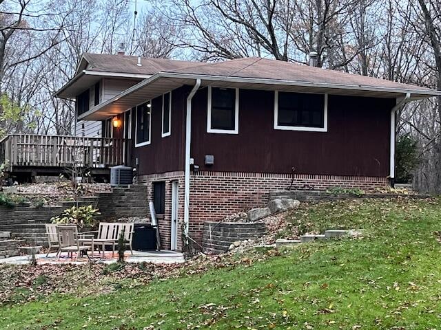
[[[152,200],[153,182],[165,181],[165,214],[160,219],[161,243],[170,248],[170,219],[172,214],[172,180],[179,181],[178,247],[181,248],[181,225],[184,214],[184,173],[173,172],[143,175],[149,186],[147,199]],[[218,221],[235,212],[264,206],[271,190],[287,189],[292,181],[289,174],[199,172],[192,174],[190,183],[189,234],[202,242],[203,223]],[[373,190],[389,184],[385,177],[345,177],[335,175],[294,175],[292,189],[325,190],[331,187]]]

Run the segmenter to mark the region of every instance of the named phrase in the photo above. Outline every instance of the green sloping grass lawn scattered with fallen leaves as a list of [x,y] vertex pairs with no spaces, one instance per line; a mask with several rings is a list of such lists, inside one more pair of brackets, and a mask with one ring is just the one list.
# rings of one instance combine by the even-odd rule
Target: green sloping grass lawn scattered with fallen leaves
[[288,217],[303,232],[366,234],[150,285],[122,281],[107,294],[3,306],[0,329],[441,329],[440,201],[327,202]]

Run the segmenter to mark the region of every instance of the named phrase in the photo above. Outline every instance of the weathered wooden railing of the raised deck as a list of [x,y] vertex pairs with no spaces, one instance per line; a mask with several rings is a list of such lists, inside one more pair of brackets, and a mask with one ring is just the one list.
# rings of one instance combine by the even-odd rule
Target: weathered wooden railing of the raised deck
[[107,168],[127,164],[130,140],[63,135],[8,135],[0,140],[0,163],[14,166]]

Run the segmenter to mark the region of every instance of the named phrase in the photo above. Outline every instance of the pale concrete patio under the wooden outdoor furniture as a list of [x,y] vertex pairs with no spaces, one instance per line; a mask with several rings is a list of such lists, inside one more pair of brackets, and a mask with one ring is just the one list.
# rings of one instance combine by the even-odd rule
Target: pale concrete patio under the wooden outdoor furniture
[[[180,252],[174,252],[169,250],[159,251],[134,251],[133,254],[130,251],[125,252],[125,262],[127,263],[183,263],[184,256]],[[118,254],[116,253],[112,257],[112,251],[106,251],[104,257],[102,254],[94,254],[94,258],[88,258],[88,256],[79,256],[78,261],[75,261],[76,253],[74,253],[73,259],[68,254],[61,254],[61,258],[57,261],[57,253],[50,253],[47,257],[45,253],[36,254],[35,258],[38,265],[44,264],[65,264],[72,263],[81,265],[88,262],[94,263],[116,263],[118,261]],[[9,265],[26,265],[30,263],[29,255],[12,256],[10,258],[0,259],[0,264]]]

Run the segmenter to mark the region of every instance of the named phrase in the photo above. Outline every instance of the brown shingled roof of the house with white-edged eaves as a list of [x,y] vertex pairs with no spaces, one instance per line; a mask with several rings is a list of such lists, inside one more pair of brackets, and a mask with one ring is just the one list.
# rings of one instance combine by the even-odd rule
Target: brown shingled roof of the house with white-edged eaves
[[139,79],[130,89],[80,116],[90,120],[121,113],[142,102],[142,98],[147,100],[182,85],[194,85],[196,79],[201,79],[201,87],[216,85],[382,98],[402,98],[408,93],[413,99],[441,95],[441,91],[426,87],[267,58],[238,58],[219,63],[140,58],[141,65],[137,65],[138,61],[136,56],[86,53],[76,76],[57,95],[75,96],[79,89],[88,88],[103,76]]

